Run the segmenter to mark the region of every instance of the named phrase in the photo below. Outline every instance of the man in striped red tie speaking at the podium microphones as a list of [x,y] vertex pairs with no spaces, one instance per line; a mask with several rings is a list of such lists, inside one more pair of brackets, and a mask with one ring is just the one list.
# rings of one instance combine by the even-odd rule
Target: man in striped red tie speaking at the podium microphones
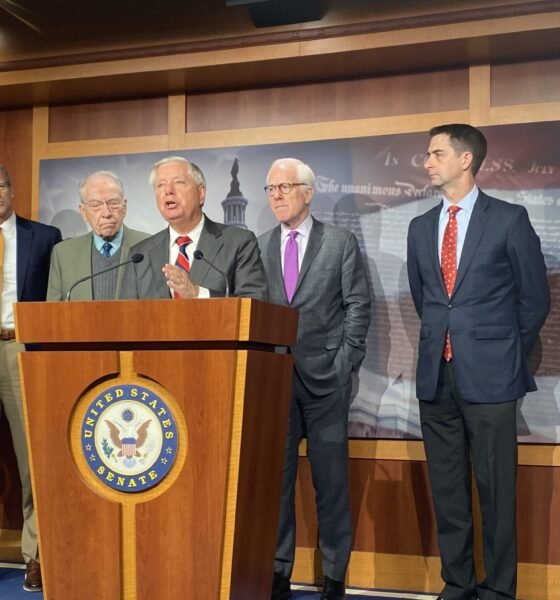
[[[149,180],[169,227],[131,248],[130,255],[141,253],[144,260],[127,265],[120,297],[219,297],[226,293],[227,280],[232,296],[267,300],[255,235],[215,223],[202,212],[206,198],[202,171],[182,157],[171,156],[152,167]],[[195,250],[206,260],[195,260]]]

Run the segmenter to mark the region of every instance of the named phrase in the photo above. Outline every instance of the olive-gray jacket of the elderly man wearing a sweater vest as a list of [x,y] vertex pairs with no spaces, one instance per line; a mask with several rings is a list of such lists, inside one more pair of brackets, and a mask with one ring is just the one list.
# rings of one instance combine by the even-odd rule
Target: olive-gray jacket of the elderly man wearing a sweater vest
[[[148,237],[143,231],[129,229],[123,225],[124,235],[121,260],[126,260],[128,252],[134,244]],[[93,234],[86,233],[75,238],[64,240],[54,247],[49,271],[47,300],[66,300],[70,287],[81,279],[91,275],[91,250]],[[117,279],[117,298],[122,285],[124,268],[119,269]],[[80,283],[72,290],[72,300],[93,300],[93,284],[91,280]]]

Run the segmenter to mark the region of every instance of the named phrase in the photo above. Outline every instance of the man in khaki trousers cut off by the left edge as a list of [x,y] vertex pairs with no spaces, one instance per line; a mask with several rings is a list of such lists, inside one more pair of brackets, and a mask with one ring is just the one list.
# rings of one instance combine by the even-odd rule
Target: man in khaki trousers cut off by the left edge
[[10,425],[21,479],[21,548],[26,563],[23,587],[28,592],[38,592],[42,589],[41,569],[17,358],[25,347],[14,339],[13,304],[45,299],[51,252],[61,235],[55,227],[18,217],[12,206],[13,197],[8,171],[0,165],[0,410],[4,410]]

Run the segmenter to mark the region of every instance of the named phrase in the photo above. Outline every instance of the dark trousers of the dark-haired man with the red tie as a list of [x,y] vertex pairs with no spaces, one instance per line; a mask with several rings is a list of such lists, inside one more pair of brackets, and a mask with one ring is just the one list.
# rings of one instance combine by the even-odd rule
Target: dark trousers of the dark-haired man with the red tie
[[[434,401],[420,402],[445,600],[515,598],[516,408],[516,402],[465,402],[457,387],[453,361],[443,360]],[[480,499],[486,573],[478,585],[471,465]]]

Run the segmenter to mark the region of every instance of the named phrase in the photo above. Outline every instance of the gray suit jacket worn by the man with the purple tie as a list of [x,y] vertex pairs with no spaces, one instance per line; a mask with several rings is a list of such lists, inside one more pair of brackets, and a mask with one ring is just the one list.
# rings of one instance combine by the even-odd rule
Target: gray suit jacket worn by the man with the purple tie
[[[259,237],[270,301],[287,306],[280,226]],[[341,227],[313,219],[290,306],[299,310],[295,369],[314,394],[348,383],[365,355],[370,293],[358,241]]]

